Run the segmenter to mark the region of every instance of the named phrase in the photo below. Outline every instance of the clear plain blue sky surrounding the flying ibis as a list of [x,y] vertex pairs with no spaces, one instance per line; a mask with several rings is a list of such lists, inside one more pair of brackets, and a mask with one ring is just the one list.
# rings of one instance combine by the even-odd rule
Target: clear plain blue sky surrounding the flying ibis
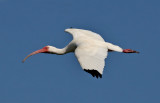
[[[159,0],[0,0],[0,103],[160,103]],[[140,54],[109,53],[103,78],[63,48],[74,27]]]

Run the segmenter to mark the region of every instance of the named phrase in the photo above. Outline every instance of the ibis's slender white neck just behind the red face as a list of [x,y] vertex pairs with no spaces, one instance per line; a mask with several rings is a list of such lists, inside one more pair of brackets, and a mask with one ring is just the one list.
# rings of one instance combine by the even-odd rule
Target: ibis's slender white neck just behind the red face
[[52,54],[63,55],[63,54],[66,53],[66,48],[59,49],[59,48],[56,48],[56,47],[50,47],[48,52],[52,53]]

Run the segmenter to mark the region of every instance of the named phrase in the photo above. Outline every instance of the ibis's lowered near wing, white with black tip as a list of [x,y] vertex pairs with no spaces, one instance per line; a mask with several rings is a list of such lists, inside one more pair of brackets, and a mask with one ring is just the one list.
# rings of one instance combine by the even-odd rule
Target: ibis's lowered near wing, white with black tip
[[80,45],[75,50],[75,55],[81,67],[97,78],[102,78],[107,53],[106,48],[95,45]]

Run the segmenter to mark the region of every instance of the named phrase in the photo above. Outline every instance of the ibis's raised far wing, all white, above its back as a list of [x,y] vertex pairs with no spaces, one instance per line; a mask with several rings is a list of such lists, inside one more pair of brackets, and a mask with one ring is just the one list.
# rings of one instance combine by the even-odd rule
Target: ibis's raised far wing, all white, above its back
[[65,32],[71,34],[74,39],[87,37],[98,41],[104,41],[104,39],[99,34],[89,30],[70,28],[65,29]]

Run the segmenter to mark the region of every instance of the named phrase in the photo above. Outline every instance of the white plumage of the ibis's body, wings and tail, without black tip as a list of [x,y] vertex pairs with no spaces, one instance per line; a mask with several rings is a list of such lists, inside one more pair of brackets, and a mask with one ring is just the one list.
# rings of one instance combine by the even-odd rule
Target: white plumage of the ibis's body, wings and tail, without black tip
[[92,31],[74,28],[65,31],[73,36],[70,44],[74,43],[77,46],[75,55],[82,69],[97,70],[102,74],[108,49],[122,52],[122,48],[105,42],[99,34]]

